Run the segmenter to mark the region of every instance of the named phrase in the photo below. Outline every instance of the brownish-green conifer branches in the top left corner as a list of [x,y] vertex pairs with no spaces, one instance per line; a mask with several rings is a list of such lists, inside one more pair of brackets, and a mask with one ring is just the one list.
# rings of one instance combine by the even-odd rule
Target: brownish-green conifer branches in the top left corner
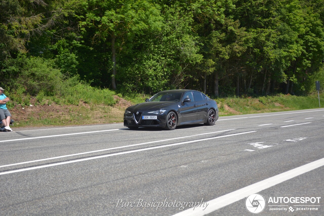
[[60,16],[60,1],[0,1],[0,57],[25,52],[25,42],[52,27]]

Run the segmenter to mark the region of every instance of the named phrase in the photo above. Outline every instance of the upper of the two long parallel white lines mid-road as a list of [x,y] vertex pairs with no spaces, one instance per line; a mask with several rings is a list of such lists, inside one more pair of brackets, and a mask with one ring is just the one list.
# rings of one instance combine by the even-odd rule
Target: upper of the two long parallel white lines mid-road
[[[116,130],[118,130],[118,129],[116,129]],[[233,131],[233,130],[234,129],[225,130],[225,131]],[[171,139],[167,139],[167,140],[157,140],[157,141],[152,141],[152,142],[144,142],[144,143],[133,144],[133,145],[125,145],[125,146],[114,147],[114,148],[109,148],[109,149],[95,150],[95,151],[91,151],[91,152],[83,152],[83,153],[69,154],[69,155],[63,155],[63,156],[57,156],[57,157],[51,157],[51,158],[45,158],[45,159],[39,159],[39,160],[33,160],[33,161],[26,161],[26,162],[21,162],[21,163],[16,163],[16,164],[1,165],[0,168],[1,167],[6,167],[6,166],[14,166],[14,165],[28,164],[28,163],[39,162],[39,161],[53,160],[53,159],[63,158],[63,157],[71,157],[71,156],[76,156],[76,155],[81,155],[81,154],[89,154],[89,153],[95,153],[95,152],[103,152],[103,151],[108,151],[108,150],[112,150],[112,149],[120,149],[120,148],[126,148],[126,147],[136,146],[136,145],[144,145],[144,144],[150,144],[150,143],[155,143],[155,142],[163,142],[163,141],[169,141],[169,140],[175,140],[175,139],[183,139],[183,138],[187,138],[187,137],[201,136],[201,135],[206,135],[206,134],[211,134],[211,133],[220,133],[220,132],[225,132],[225,131],[215,131],[215,132],[210,132],[210,133],[201,133],[201,134],[196,134],[196,135],[191,135],[191,136],[171,138]]]

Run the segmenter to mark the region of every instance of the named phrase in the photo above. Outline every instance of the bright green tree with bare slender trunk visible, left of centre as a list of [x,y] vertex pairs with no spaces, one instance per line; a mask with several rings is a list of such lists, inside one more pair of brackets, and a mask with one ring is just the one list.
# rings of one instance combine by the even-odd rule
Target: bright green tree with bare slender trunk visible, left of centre
[[135,36],[144,36],[147,29],[160,29],[162,22],[159,6],[152,1],[103,1],[87,3],[86,19],[80,22],[83,30],[93,28],[93,43],[111,46],[111,87],[116,89],[116,49],[121,52],[124,44]]

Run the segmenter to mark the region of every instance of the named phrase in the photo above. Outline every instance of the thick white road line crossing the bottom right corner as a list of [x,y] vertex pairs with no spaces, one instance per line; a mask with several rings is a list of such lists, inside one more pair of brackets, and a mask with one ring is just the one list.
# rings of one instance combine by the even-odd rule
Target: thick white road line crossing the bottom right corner
[[[183,210],[177,214],[174,214],[173,216],[201,216],[206,215],[208,213],[211,213],[215,210],[218,210],[220,208],[223,208],[227,205],[230,205],[234,202],[237,202],[241,199],[244,199],[248,197],[251,194],[258,193],[262,190],[265,190],[267,188],[270,188],[272,186],[275,186],[277,184],[280,184],[286,180],[292,179],[296,176],[302,175],[304,173],[307,173],[311,170],[314,170],[318,167],[321,167],[324,165],[324,158],[319,159],[317,161],[311,162],[306,165],[299,166],[295,169],[289,170],[287,172],[281,173],[276,176],[272,176],[270,178],[264,179],[262,181],[259,181],[257,183],[254,183],[252,185],[249,185],[247,187],[238,189],[236,191],[233,191],[231,193],[225,194],[221,197],[218,197],[216,199],[212,199],[210,201],[207,201],[208,207],[204,209],[204,207],[196,207],[194,210],[193,208]],[[242,201],[243,203],[243,201]],[[244,204],[243,204],[244,205]]]

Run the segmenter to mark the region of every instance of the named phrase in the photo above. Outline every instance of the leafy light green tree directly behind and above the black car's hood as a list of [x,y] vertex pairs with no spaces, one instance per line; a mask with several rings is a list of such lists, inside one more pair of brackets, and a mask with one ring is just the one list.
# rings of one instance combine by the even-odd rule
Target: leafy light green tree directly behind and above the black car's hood
[[192,14],[179,3],[163,6],[161,31],[135,37],[120,60],[117,76],[125,91],[156,93],[183,88],[193,65],[200,62],[198,37],[192,32]]

